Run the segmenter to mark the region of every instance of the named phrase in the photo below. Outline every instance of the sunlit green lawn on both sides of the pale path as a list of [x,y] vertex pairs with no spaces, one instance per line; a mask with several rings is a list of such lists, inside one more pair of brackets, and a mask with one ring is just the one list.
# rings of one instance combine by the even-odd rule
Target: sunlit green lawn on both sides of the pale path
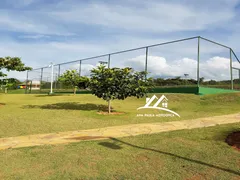
[[[160,96],[160,94],[158,94]],[[0,94],[0,137],[123,124],[194,119],[239,112],[240,93],[165,94],[178,117],[137,117],[145,98],[113,101],[121,115],[101,115],[92,95]],[[239,179],[239,151],[227,134],[240,124],[102,141],[0,151],[0,179]]]

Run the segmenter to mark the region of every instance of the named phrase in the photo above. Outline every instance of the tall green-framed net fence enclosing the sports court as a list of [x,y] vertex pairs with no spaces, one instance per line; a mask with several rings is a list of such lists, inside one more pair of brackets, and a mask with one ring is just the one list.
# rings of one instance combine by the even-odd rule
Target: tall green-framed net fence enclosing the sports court
[[64,72],[76,70],[80,76],[90,77],[91,70],[100,64],[146,71],[157,89],[240,89],[240,61],[233,50],[202,37],[192,37],[55,64],[53,71],[51,67],[29,71],[28,86],[35,87],[28,88],[29,92],[50,92],[51,81],[54,92],[71,92],[73,87],[58,80]]

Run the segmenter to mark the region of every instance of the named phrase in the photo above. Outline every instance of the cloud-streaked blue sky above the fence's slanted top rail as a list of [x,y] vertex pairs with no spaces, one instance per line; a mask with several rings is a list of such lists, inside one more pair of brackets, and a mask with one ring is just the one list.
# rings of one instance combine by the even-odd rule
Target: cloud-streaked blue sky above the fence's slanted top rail
[[[2,0],[0,56],[19,56],[37,68],[198,35],[240,54],[239,19],[240,0]],[[176,47],[189,50],[182,59],[193,59],[192,46]],[[213,51],[209,58],[227,58],[205,49]],[[131,57],[133,63],[141,55]]]

